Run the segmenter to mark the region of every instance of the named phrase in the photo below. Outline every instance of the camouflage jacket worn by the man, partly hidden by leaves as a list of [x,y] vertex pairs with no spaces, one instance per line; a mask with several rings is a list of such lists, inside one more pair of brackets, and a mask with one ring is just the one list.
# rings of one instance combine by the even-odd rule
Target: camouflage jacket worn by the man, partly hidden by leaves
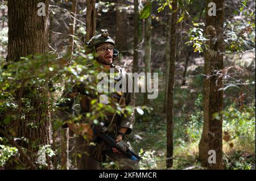
[[[123,70],[120,66],[114,66],[111,65],[110,68],[114,68],[115,73],[117,73],[117,75],[115,75],[115,83],[119,80],[122,79],[122,77],[127,76],[127,79],[130,79],[130,77],[128,76],[128,74],[125,72],[125,70]],[[128,90],[128,81],[126,80],[126,88]],[[123,96],[122,96],[123,94]],[[124,106],[131,106],[133,107],[133,111],[128,115],[126,114],[126,116],[124,115],[115,115],[114,116],[114,120],[113,123],[117,125],[117,129],[125,127],[128,128],[126,131],[126,134],[130,134],[133,131],[133,124],[135,122],[135,113],[134,113],[134,107],[135,107],[135,94],[134,92],[119,92],[119,94],[117,92],[113,92],[111,94],[112,98],[110,98],[112,100],[112,102],[115,103],[119,103],[121,107]],[[63,92],[63,98],[68,98],[65,103],[61,103],[59,105],[59,117],[62,120],[67,120],[69,115],[74,115],[74,113],[87,113],[87,112],[92,112],[92,106],[91,106],[91,101],[93,99],[97,99],[97,101],[99,102],[100,99],[93,97],[92,95],[88,95],[85,94],[85,86],[80,84],[79,86],[74,86],[71,90],[67,90],[65,89]],[[79,98],[78,98],[79,96]],[[120,101],[122,97],[122,100]],[[111,104],[111,103],[110,103]],[[115,107],[114,104],[111,104],[111,106],[113,105],[113,107]],[[106,125],[108,125],[110,123],[110,121],[113,118],[113,113],[106,113],[106,117],[108,117],[108,119],[103,120],[105,122]]]

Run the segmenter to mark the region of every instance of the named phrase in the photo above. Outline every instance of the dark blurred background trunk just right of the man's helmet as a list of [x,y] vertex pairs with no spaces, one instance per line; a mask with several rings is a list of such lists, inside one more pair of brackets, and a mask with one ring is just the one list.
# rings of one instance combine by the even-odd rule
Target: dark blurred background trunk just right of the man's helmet
[[116,16],[116,39],[115,44],[121,51],[127,51],[127,18],[126,18],[126,0],[117,0]]

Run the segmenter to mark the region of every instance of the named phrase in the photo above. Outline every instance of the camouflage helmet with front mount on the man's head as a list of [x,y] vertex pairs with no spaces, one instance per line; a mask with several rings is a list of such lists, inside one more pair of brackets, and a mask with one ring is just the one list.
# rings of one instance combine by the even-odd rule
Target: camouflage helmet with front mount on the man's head
[[101,30],[100,35],[93,36],[88,42],[89,48],[96,48],[97,45],[101,43],[110,43],[113,46],[115,45],[114,40],[109,36],[108,30]]

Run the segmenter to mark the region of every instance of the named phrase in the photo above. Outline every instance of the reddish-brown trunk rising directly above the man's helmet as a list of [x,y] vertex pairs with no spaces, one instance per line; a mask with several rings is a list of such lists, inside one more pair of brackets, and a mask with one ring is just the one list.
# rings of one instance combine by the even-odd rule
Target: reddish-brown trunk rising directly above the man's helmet
[[95,36],[96,31],[96,0],[86,0],[86,39],[89,41],[93,36]]

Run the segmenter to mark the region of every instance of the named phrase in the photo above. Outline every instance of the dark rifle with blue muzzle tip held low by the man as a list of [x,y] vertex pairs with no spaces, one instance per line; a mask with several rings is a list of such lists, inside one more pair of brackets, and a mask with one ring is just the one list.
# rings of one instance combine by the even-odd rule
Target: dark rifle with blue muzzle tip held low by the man
[[93,132],[96,134],[96,136],[100,137],[106,145],[110,146],[111,148],[116,148],[121,153],[125,154],[128,158],[139,161],[141,157],[139,155],[135,154],[130,146],[127,144],[127,142],[121,140],[119,142],[115,142],[115,140],[110,137],[108,134],[106,134],[106,131],[108,130],[107,127],[105,127],[105,124],[103,122],[98,123],[97,125],[93,124]]

